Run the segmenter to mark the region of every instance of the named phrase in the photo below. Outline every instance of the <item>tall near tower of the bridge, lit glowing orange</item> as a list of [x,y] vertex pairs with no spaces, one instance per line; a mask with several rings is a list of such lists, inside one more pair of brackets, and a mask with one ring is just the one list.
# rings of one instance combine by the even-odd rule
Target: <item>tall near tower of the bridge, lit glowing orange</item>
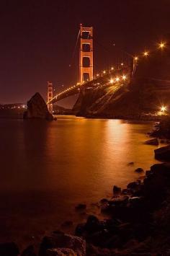
[[93,79],[93,27],[80,25],[79,82]]

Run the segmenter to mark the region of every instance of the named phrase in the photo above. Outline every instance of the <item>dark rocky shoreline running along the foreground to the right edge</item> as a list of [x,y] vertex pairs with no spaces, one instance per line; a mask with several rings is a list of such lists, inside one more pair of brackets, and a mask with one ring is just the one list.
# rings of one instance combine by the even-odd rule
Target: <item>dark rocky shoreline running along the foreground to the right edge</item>
[[[169,255],[170,163],[154,164],[145,173],[135,171],[143,175],[140,180],[125,189],[114,185],[112,197],[100,200],[104,220],[90,215],[74,235],[53,231],[42,238],[38,252],[33,244],[20,254],[17,244],[0,244],[0,256]],[[76,211],[86,211],[86,205],[76,206]]]

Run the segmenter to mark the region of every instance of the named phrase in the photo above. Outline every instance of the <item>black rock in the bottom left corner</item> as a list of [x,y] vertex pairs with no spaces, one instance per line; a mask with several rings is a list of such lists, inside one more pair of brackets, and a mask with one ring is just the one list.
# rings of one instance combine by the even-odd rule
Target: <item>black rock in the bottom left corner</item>
[[19,248],[14,242],[6,242],[4,244],[0,244],[0,255],[17,256],[19,255]]

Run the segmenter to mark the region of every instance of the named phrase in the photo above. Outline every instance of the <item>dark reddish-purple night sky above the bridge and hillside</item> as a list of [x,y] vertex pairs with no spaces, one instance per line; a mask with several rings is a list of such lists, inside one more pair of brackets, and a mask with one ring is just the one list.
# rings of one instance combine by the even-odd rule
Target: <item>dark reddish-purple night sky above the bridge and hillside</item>
[[135,53],[161,40],[169,13],[169,0],[1,0],[0,103],[26,102],[35,92],[46,97],[46,81],[58,91],[77,81],[79,23],[94,27],[97,71],[114,63],[113,43]]

